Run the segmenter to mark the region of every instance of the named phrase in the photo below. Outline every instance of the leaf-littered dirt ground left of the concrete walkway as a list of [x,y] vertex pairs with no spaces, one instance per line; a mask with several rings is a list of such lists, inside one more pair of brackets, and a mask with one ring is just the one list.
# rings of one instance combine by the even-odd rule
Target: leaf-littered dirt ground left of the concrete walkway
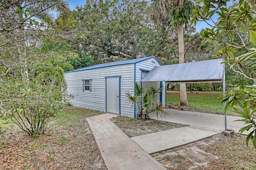
[[0,136],[0,170],[106,170],[86,120],[87,111],[67,108],[40,137],[5,124],[11,127]]

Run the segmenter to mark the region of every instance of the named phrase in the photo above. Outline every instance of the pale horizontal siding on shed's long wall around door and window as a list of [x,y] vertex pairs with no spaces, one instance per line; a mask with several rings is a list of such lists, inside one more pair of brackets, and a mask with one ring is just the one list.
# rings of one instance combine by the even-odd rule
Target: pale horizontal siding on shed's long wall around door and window
[[[120,114],[134,117],[132,104],[126,100],[126,92],[134,90],[134,64],[97,68],[79,72],[66,72],[67,91],[74,94],[70,102],[74,106],[106,111],[106,76],[122,76],[120,79]],[[82,80],[92,79],[92,92],[84,91]]]

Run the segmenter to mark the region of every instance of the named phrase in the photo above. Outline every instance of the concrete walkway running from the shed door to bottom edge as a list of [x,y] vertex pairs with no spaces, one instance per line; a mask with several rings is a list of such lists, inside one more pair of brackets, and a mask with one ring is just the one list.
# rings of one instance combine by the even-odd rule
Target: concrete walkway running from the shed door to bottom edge
[[106,113],[87,118],[108,170],[165,170],[112,121]]

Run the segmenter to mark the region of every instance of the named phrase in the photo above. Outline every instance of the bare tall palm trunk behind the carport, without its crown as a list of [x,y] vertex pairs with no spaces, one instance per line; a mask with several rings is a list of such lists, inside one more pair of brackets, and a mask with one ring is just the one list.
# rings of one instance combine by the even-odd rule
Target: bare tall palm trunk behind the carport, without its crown
[[[179,44],[179,63],[184,63],[184,37],[183,37],[183,23],[178,25],[178,44]],[[188,106],[186,83],[180,83],[180,105]]]

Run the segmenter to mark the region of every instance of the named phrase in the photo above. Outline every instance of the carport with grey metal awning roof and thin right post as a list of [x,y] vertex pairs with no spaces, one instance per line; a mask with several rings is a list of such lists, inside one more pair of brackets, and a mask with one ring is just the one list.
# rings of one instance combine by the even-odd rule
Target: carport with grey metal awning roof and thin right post
[[[171,64],[154,67],[141,82],[168,82],[168,83],[203,83],[222,82],[225,95],[225,66],[222,59],[197,61],[192,63]],[[226,103],[223,104],[223,108]],[[226,113],[224,115],[225,131]]]

